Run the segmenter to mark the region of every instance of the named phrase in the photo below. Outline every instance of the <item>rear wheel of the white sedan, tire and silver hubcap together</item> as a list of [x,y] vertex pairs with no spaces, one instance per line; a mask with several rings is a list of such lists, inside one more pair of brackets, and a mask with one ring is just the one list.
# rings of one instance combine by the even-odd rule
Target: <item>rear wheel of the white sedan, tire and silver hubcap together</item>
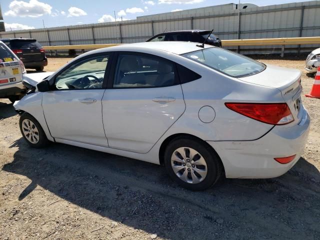
[[171,178],[190,190],[211,187],[222,172],[214,150],[193,137],[173,139],[165,149],[164,163]]

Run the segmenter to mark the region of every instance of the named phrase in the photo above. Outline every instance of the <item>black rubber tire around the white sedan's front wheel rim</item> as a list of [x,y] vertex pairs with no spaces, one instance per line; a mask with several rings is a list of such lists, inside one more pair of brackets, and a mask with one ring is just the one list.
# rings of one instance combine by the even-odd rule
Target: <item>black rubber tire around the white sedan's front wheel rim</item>
[[[30,141],[27,139],[27,137],[25,136],[25,134],[23,133],[22,128],[25,129],[25,125],[22,126],[22,122],[23,122],[23,120],[25,120],[25,119],[26,119],[26,120],[30,120],[31,122],[33,122],[34,125],[35,125],[36,128],[37,128],[38,141],[35,142],[35,143],[30,142]],[[46,137],[46,135],[45,135],[45,133],[44,133],[44,131],[43,131],[40,123],[39,123],[32,115],[30,115],[29,113],[27,113],[27,112],[22,113],[22,115],[20,116],[20,119],[19,119],[19,126],[20,126],[20,131],[21,131],[21,134],[22,134],[24,140],[25,140],[30,146],[35,147],[35,148],[42,148],[42,147],[46,146],[46,145],[49,143],[49,140],[48,140],[48,138]]]

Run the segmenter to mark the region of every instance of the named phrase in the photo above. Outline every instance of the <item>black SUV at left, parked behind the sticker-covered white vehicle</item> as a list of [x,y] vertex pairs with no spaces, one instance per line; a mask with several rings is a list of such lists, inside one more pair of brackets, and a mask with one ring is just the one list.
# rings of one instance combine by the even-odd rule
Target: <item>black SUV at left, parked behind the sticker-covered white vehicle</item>
[[44,49],[32,38],[0,38],[23,62],[25,68],[38,71],[48,64]]

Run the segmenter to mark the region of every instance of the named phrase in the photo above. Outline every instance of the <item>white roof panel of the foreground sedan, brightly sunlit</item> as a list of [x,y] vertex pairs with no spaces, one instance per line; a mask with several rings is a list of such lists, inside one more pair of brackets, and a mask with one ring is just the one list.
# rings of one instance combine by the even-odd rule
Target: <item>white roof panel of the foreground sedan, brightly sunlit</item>
[[[147,41],[138,43],[121,44],[117,46],[104,47],[91,51],[91,53],[105,52],[105,51],[142,51],[148,50],[167,51],[174,54],[183,54],[191,51],[203,49],[199,46],[198,42],[187,41]],[[212,45],[204,44],[204,48],[214,47]],[[84,53],[85,54],[85,53]]]

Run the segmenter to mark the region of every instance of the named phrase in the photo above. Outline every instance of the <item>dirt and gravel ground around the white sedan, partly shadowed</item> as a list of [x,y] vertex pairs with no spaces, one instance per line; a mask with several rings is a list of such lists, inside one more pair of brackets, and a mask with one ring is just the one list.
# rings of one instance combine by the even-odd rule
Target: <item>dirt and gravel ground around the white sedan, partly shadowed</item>
[[[309,92],[303,57],[258,58],[300,69]],[[70,59],[49,58],[44,70]],[[291,170],[191,192],[162,166],[64,144],[30,148],[0,99],[0,239],[320,239],[320,99],[302,100],[311,130]]]

